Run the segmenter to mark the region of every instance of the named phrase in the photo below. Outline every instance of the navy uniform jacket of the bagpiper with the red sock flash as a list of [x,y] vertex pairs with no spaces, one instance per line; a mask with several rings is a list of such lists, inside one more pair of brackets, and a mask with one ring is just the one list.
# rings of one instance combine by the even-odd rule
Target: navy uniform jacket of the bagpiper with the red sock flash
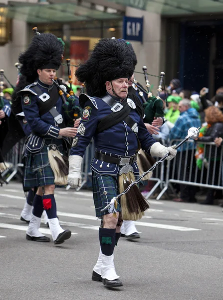
[[[38,85],[41,89],[42,94],[47,94],[49,88],[52,85],[44,84],[43,82],[37,80],[36,82],[26,86],[24,89],[20,91],[21,101],[22,101],[22,109],[25,114],[25,119],[28,122],[28,125],[31,128],[32,134],[30,136],[30,142],[27,144],[27,149],[31,152],[39,151],[46,137],[50,138],[58,138],[59,136],[59,125],[55,121],[52,114],[47,111],[46,113],[40,115],[39,114],[39,106],[38,102],[41,104],[41,101],[47,101],[44,97],[38,97],[34,90],[34,86]],[[44,94],[44,95],[45,95]],[[42,100],[43,99],[43,100]],[[45,100],[46,99],[46,100]],[[61,114],[63,120],[65,119],[64,111],[62,107],[63,101],[60,95],[58,94],[58,100],[56,101],[55,108]]]

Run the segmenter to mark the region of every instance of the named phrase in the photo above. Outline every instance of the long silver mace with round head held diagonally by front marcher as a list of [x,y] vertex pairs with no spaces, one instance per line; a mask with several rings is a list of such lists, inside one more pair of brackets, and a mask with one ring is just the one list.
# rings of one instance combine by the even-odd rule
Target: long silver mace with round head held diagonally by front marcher
[[[189,129],[188,129],[188,135],[185,137],[185,139],[183,139],[183,140],[175,147],[175,149],[177,149],[177,148],[179,148],[181,145],[183,145],[183,143],[185,143],[187,140],[189,140],[189,138],[193,138],[193,139],[198,138],[198,136],[199,136],[199,128],[200,128],[200,127],[198,127],[198,128],[196,128],[196,127],[191,127],[191,128],[189,128]],[[118,200],[118,198],[120,198],[122,195],[124,195],[125,193],[127,193],[127,192],[130,190],[130,188],[131,188],[134,184],[139,183],[139,182],[142,180],[142,178],[143,178],[146,174],[148,174],[149,172],[152,172],[152,171],[155,169],[155,167],[156,167],[158,164],[160,164],[161,162],[163,162],[164,160],[166,160],[166,158],[167,158],[168,156],[169,156],[169,153],[166,153],[160,160],[156,161],[156,162],[154,163],[154,165],[153,165],[149,170],[147,170],[146,172],[144,172],[137,180],[135,180],[135,181],[133,181],[131,184],[129,184],[129,186],[128,186],[123,192],[121,192],[120,194],[118,194],[116,197],[113,197],[113,198],[111,199],[111,202],[110,202],[107,206],[105,206],[104,208],[102,208],[100,211],[104,211],[104,210],[106,210],[107,208],[109,208],[109,206],[113,205],[113,204],[115,203],[115,201]]]

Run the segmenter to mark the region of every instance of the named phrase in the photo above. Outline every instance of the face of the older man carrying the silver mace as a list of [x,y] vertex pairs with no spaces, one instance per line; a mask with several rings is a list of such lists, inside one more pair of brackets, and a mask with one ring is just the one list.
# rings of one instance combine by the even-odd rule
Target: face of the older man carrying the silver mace
[[121,99],[124,99],[127,97],[128,94],[128,87],[129,87],[128,81],[129,81],[128,78],[118,78],[112,81],[106,81],[105,82],[106,90],[110,94],[114,96],[118,96]]

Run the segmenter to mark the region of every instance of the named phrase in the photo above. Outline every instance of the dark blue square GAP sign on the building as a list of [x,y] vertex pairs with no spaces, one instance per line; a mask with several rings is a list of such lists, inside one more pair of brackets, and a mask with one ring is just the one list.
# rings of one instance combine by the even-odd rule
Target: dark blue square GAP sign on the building
[[143,17],[123,17],[123,38],[143,42]]

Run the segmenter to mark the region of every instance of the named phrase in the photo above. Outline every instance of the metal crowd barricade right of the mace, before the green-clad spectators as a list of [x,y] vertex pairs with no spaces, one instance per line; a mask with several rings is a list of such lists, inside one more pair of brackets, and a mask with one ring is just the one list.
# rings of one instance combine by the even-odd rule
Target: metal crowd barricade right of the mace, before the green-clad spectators
[[[170,145],[180,141],[172,140]],[[175,193],[172,183],[223,189],[223,147],[217,147],[214,142],[196,141],[196,145],[202,145],[203,148],[203,161],[199,168],[195,158],[196,148],[191,146],[192,143],[194,145],[195,141],[189,139],[184,144],[184,151],[178,151],[174,159],[167,161],[166,184],[157,200],[169,187]]]

